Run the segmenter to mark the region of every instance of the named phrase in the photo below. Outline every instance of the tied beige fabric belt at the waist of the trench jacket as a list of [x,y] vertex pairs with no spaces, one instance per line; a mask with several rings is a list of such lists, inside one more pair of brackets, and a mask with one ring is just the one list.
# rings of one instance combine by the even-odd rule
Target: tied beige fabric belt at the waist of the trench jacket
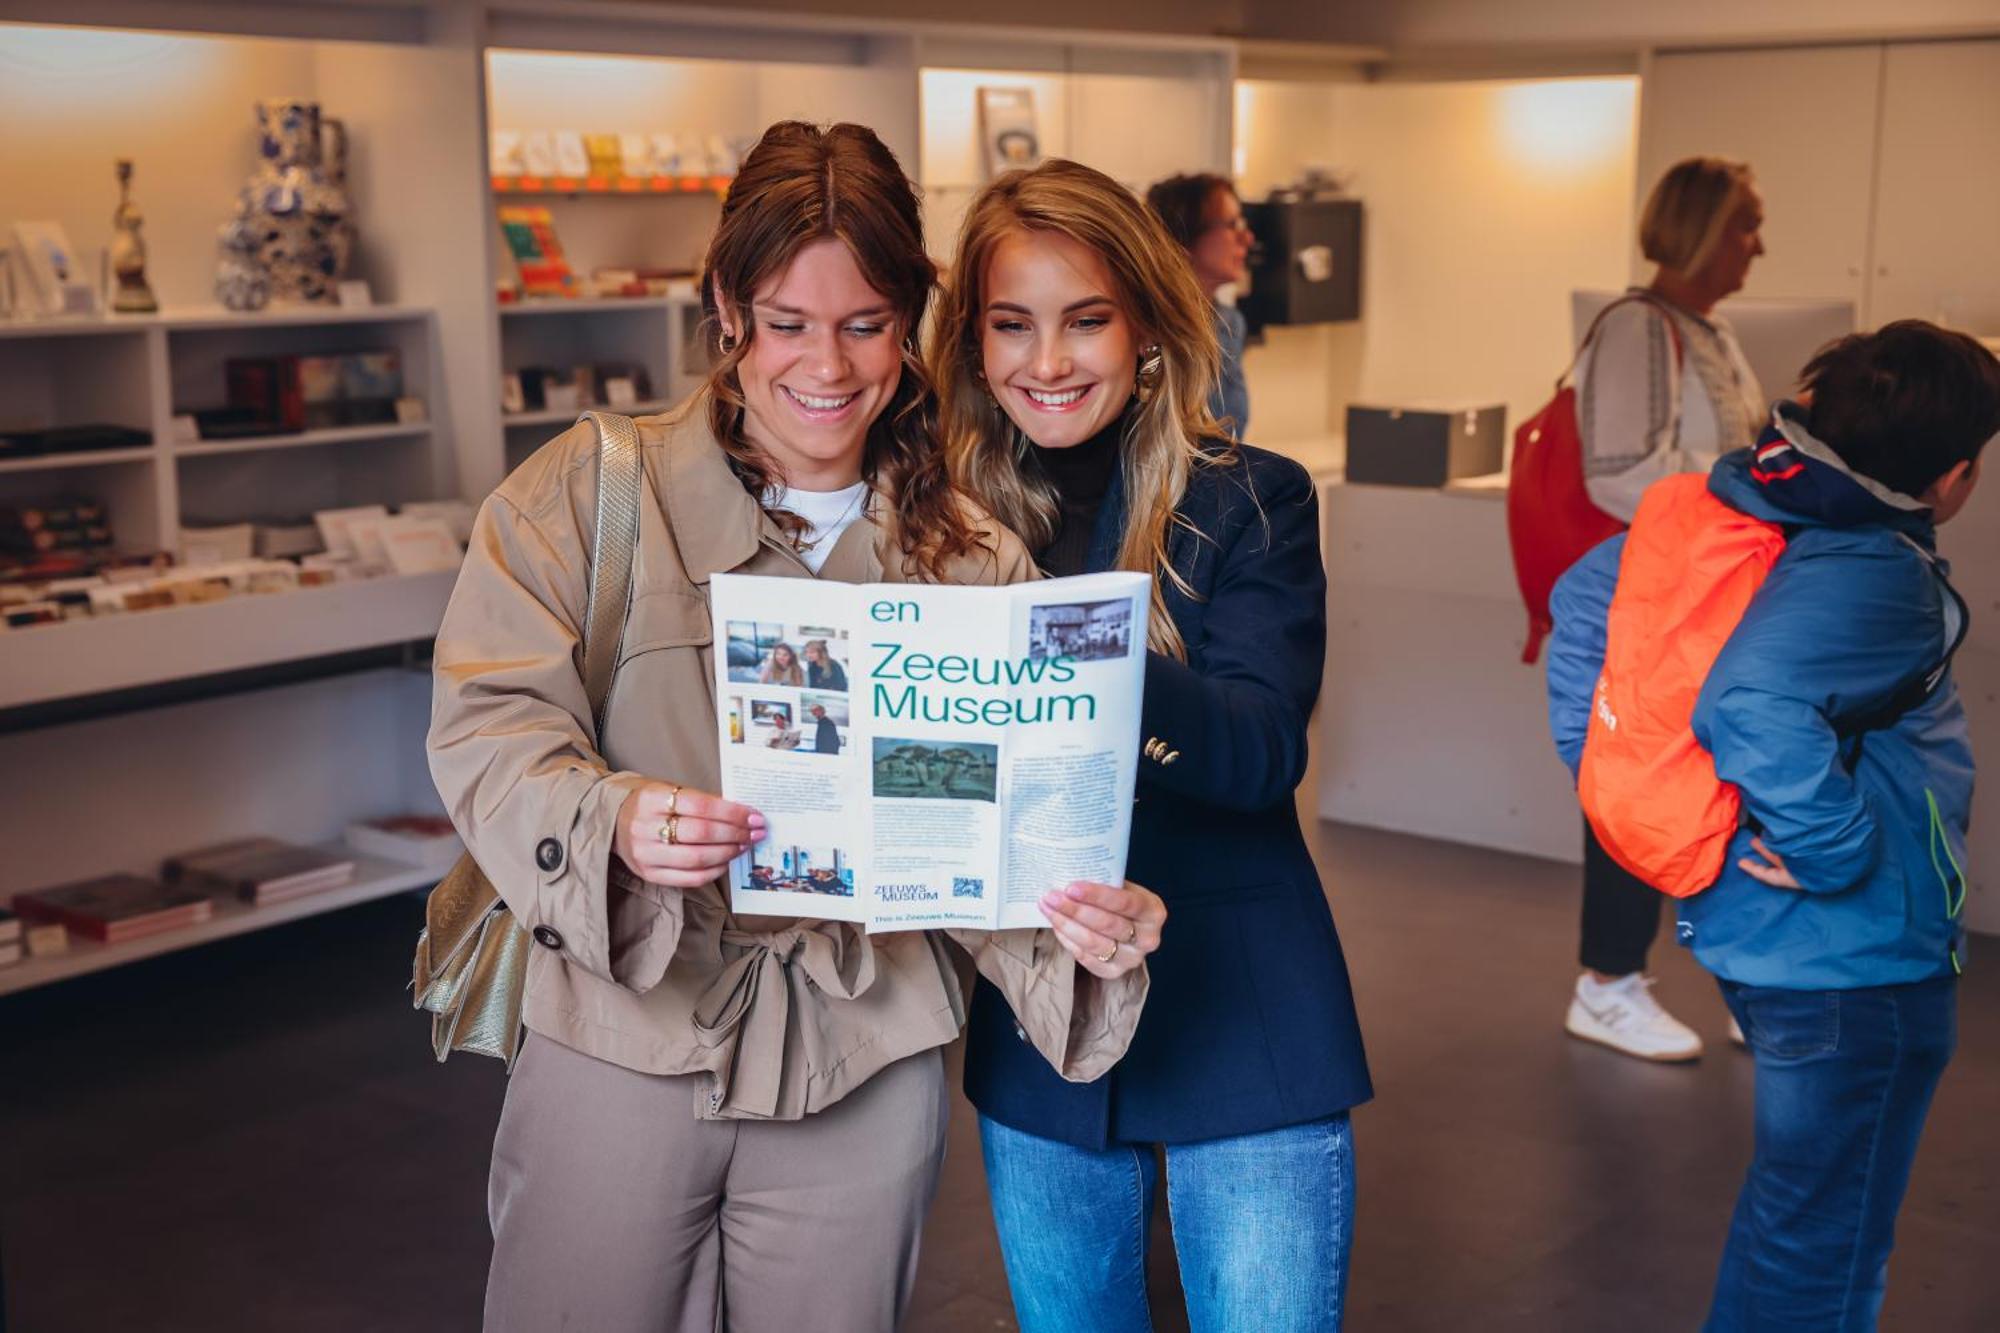
[[794,987],[810,981],[834,999],[856,999],[874,985],[874,949],[838,925],[722,931],[722,949],[724,957],[732,949],[742,953],[702,991],[692,1015],[700,1043],[722,1051],[710,1111],[728,1103],[732,1111],[772,1119],[784,1089]]

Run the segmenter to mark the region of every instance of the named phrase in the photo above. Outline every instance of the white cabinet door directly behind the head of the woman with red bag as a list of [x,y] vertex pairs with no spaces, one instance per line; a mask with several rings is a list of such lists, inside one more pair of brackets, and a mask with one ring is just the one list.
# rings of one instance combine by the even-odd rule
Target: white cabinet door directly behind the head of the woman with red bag
[[1742,158],[1764,194],[1770,250],[1744,296],[1860,308],[1880,82],[1880,46],[1656,56],[1640,112],[1640,206],[1680,158]]

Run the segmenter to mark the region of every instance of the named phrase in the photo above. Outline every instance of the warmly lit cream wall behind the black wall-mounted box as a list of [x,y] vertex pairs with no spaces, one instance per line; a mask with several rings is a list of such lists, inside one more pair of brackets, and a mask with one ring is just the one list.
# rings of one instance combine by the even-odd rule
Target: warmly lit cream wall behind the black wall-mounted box
[[1252,434],[1338,430],[1350,400],[1504,402],[1510,430],[1536,410],[1570,290],[1626,282],[1638,80],[1240,88],[1246,194],[1316,162],[1366,208],[1360,324],[1252,350]]

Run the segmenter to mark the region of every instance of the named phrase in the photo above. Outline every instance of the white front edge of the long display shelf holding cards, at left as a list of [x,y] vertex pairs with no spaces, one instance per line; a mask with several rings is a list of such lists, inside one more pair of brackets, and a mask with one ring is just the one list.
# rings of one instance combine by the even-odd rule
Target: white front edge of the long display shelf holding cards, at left
[[0,709],[432,638],[456,570],[0,632]]

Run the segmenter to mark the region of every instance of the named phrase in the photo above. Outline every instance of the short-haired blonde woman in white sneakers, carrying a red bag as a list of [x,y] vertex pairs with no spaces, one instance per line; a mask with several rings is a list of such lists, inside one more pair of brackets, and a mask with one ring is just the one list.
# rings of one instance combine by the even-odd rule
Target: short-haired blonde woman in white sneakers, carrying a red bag
[[[1706,472],[1756,442],[1764,390],[1716,302],[1742,288],[1764,254],[1764,200],[1750,168],[1726,158],[1676,162],[1640,214],[1652,280],[1614,302],[1576,360],[1584,488],[1630,522],[1646,486]],[[1624,1055],[1692,1061],[1702,1039],[1652,997],[1646,953],[1664,895],[1598,845],[1584,825],[1584,907],[1564,1029]]]

